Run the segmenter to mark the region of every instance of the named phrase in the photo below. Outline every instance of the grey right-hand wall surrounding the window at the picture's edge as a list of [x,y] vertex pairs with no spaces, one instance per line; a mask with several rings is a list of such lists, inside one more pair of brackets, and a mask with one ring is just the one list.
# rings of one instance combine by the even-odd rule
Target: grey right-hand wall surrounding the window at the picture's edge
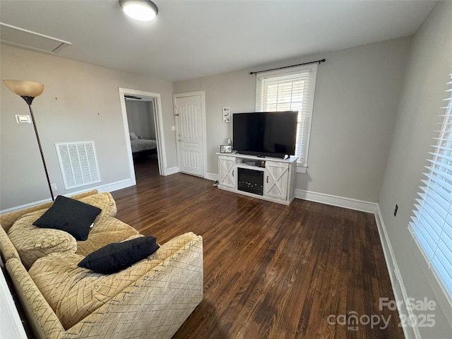
[[[427,262],[408,232],[408,222],[417,198],[422,172],[427,165],[429,145],[434,144],[444,110],[442,101],[448,94],[452,73],[452,2],[441,1],[434,8],[412,42],[412,51],[400,95],[391,151],[383,179],[379,205],[383,223],[393,246],[393,253],[403,277],[408,297],[435,300],[436,324],[420,328],[422,338],[450,338],[452,309],[439,289]],[[398,214],[393,216],[398,204]],[[393,274],[393,269],[389,269]],[[397,282],[399,283],[399,282]],[[396,286],[400,289],[400,286]],[[430,311],[415,311],[427,314]],[[446,319],[449,319],[446,321]]]

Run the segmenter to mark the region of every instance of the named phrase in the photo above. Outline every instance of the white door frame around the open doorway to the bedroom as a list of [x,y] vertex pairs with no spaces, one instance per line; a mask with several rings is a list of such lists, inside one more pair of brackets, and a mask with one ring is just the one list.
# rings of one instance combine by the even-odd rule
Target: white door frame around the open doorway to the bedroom
[[129,170],[132,185],[136,185],[135,166],[133,165],[132,148],[129,137],[129,121],[127,119],[126,98],[124,95],[136,95],[139,97],[152,97],[154,99],[154,121],[155,139],[157,143],[158,172],[160,175],[167,175],[167,158],[165,152],[165,136],[163,134],[162,98],[160,93],[145,92],[143,90],[131,90],[129,88],[119,88],[119,102],[121,103],[122,121],[124,123],[127,157],[129,160]]

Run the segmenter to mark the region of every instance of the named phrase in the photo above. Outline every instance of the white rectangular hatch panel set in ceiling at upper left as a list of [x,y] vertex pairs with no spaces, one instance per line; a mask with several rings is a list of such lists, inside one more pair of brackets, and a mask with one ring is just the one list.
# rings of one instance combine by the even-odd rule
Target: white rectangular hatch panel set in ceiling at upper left
[[0,42],[8,46],[52,54],[59,52],[65,46],[71,45],[71,42],[7,23],[0,23]]

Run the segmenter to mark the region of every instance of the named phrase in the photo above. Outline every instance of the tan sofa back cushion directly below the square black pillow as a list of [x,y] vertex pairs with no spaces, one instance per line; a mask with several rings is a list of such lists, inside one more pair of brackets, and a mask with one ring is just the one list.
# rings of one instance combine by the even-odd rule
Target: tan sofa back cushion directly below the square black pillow
[[16,247],[23,266],[27,269],[30,269],[38,258],[52,252],[75,253],[77,250],[77,241],[71,234],[32,225],[32,222],[40,218],[43,213],[44,210],[37,210],[23,215],[8,231],[8,237]]

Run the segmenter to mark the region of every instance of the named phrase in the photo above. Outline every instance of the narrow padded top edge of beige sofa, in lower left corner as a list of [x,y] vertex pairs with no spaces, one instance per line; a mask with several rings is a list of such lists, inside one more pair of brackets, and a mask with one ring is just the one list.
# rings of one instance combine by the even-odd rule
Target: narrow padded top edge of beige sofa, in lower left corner
[[11,258],[6,263],[6,269],[35,335],[42,339],[60,338],[64,333],[64,327],[22,263],[16,258]]

